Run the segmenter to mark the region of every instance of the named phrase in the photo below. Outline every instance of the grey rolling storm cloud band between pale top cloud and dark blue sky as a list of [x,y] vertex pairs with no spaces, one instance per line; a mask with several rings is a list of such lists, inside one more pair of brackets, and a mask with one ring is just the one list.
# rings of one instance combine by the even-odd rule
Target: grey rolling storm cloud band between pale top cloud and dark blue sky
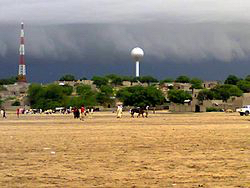
[[[11,27],[4,30],[0,34],[1,56],[18,47],[17,32],[11,35]],[[94,54],[108,56],[113,52],[129,55],[135,46],[141,46],[146,55],[156,59],[189,63],[207,58],[231,62],[248,59],[250,54],[250,40],[246,40],[250,38],[250,24],[242,23],[28,25],[26,36],[29,56],[60,60],[72,56],[84,59]]]

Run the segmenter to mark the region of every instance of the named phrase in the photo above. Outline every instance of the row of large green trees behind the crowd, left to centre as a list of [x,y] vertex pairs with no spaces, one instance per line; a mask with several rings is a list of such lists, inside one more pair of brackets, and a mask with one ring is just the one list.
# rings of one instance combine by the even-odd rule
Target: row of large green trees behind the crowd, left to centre
[[115,91],[109,85],[102,85],[98,90],[89,85],[79,85],[75,88],[68,85],[50,84],[42,86],[32,84],[28,90],[28,98],[32,108],[54,109],[56,107],[88,107],[114,105],[115,99],[130,106],[155,106],[163,104],[165,98],[160,90],[153,86],[133,86]]

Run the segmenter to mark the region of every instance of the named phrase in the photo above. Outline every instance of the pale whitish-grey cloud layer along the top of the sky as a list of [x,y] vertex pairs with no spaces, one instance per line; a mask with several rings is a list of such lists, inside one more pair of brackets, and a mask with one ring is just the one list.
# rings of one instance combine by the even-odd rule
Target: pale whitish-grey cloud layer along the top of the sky
[[34,23],[249,20],[247,0],[1,0],[0,21]]

